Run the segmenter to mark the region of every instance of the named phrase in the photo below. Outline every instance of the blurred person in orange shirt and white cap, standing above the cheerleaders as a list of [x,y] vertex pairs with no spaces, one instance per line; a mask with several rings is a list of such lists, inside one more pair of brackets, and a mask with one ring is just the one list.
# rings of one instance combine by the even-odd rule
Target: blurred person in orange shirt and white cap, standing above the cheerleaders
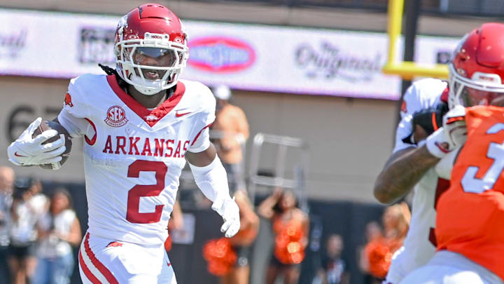
[[[228,173],[230,191],[244,190],[242,146],[248,139],[248,122],[243,110],[230,104],[231,90],[228,86],[220,85],[212,88],[217,99],[216,120],[211,126],[216,135],[214,144],[217,154]],[[214,138],[214,137],[212,137]]]

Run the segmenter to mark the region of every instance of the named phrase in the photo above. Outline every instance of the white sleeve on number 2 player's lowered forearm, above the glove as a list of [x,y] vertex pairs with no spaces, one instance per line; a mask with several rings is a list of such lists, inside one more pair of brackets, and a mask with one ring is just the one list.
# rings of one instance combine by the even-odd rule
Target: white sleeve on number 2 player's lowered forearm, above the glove
[[229,197],[228,175],[218,156],[204,167],[197,167],[190,163],[189,166],[197,186],[212,202],[216,201],[218,196]]

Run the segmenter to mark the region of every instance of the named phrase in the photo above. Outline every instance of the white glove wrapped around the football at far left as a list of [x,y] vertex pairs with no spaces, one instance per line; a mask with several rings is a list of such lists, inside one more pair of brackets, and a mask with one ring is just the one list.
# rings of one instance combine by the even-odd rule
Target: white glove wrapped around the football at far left
[[59,156],[65,151],[64,135],[59,135],[55,142],[42,144],[45,140],[56,136],[56,130],[45,130],[33,138],[33,133],[38,128],[42,118],[32,122],[18,140],[15,140],[7,148],[8,160],[15,165],[41,165],[44,163],[57,163],[62,160]]

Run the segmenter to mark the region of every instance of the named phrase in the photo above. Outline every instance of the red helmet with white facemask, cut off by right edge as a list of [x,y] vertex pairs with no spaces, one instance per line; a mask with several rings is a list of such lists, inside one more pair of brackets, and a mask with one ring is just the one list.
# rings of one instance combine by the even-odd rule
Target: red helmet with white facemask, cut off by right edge
[[504,25],[485,23],[463,37],[451,58],[449,107],[504,107],[503,83]]

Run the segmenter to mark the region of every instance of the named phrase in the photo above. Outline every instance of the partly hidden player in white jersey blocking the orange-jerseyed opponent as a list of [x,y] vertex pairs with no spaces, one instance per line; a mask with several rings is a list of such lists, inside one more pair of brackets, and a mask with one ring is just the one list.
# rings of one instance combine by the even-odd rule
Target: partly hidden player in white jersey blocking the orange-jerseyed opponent
[[[394,203],[414,188],[412,219],[402,248],[393,255],[384,284],[400,283],[435,253],[435,206],[449,188],[449,175],[440,165],[453,163],[455,155],[447,154],[455,149],[455,140],[465,137],[465,128],[455,125],[451,126],[451,135],[444,133],[442,117],[451,107],[448,99],[448,83],[438,79],[415,81],[404,95],[393,154],[377,177],[374,196],[381,203]],[[445,156],[447,161],[438,165]]]

